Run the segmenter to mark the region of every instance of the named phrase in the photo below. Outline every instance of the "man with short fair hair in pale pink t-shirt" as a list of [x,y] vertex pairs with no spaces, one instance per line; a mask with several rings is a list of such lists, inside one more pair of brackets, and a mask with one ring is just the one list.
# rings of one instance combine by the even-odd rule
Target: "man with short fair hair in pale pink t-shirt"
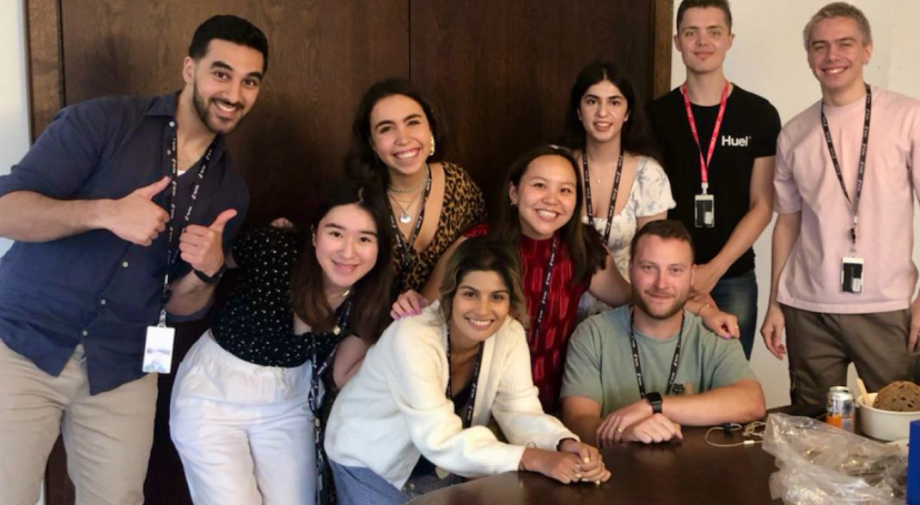
[[792,402],[821,404],[850,363],[869,391],[913,377],[920,102],[864,82],[872,32],[856,7],[823,7],[803,37],[821,100],[779,138],[761,333],[777,358],[788,347]]

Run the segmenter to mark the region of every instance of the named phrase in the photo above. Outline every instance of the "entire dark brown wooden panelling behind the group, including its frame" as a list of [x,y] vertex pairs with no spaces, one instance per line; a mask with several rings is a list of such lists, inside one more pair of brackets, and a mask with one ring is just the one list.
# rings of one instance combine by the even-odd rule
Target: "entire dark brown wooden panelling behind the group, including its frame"
[[[250,224],[306,216],[342,173],[361,93],[386,77],[411,78],[440,105],[449,159],[470,170],[491,202],[520,152],[559,137],[569,88],[588,61],[626,65],[644,100],[670,88],[672,0],[23,1],[33,139],[60,107],[180,89],[191,34],[212,14],[262,28],[268,77],[230,138],[252,196]],[[179,329],[177,358],[208,324]],[[161,377],[146,489],[153,505],[190,503],[169,441],[171,387],[172,376]],[[60,444],[47,503],[73,503]]]

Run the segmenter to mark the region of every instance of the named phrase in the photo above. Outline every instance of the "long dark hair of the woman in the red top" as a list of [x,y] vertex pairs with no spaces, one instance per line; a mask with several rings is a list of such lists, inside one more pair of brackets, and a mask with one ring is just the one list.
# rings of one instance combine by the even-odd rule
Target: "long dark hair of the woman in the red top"
[[540,145],[521,154],[508,170],[508,183],[502,188],[502,204],[499,209],[498,216],[489,232],[493,236],[503,238],[513,244],[520,243],[521,239],[521,218],[518,213],[518,208],[511,204],[511,198],[508,194],[510,184],[519,188],[521,179],[530,163],[540,156],[561,156],[572,168],[572,173],[576,176],[576,208],[572,212],[569,222],[562,225],[559,231],[561,235],[561,243],[569,249],[569,254],[572,257],[574,265],[573,281],[577,283],[590,281],[590,277],[599,270],[603,270],[607,264],[607,248],[603,245],[600,233],[592,226],[581,222],[581,213],[584,206],[584,190],[581,184],[581,174],[578,170],[578,164],[572,158],[572,153],[559,145]]

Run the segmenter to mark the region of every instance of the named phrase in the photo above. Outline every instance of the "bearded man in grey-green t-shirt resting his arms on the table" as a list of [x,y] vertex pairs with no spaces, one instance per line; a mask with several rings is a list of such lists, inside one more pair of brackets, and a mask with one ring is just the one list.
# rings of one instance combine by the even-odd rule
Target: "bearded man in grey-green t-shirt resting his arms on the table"
[[569,342],[562,420],[587,443],[681,438],[681,425],[763,416],[763,392],[737,340],[684,310],[693,244],[678,221],[644,225],[630,245],[630,305],[582,323]]

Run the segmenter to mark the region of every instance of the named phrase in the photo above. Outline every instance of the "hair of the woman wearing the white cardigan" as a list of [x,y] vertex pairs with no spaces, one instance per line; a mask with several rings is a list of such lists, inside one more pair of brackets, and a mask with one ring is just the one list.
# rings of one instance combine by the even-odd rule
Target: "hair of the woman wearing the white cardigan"
[[496,272],[504,281],[511,315],[527,327],[527,299],[521,287],[521,256],[507,240],[473,236],[460,243],[450,256],[439,287],[441,315],[450,324],[457,287],[470,272]]

